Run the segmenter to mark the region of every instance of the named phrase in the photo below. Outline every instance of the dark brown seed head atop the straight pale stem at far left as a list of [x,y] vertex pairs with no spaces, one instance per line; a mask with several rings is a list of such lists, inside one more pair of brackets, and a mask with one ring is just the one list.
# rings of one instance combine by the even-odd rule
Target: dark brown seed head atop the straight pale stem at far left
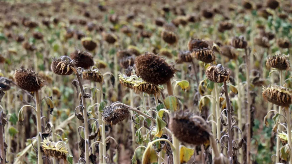
[[44,87],[44,82],[39,75],[29,69],[20,68],[15,70],[13,78],[20,88],[29,92],[39,91],[41,87]]

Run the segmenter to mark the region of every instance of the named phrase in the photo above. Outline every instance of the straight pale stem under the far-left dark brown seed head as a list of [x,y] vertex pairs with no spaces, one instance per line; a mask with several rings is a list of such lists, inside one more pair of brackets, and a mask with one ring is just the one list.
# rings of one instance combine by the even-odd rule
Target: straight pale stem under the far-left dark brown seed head
[[36,97],[36,128],[37,128],[37,161],[43,163],[43,156],[41,155],[41,106],[39,102],[39,91],[35,92]]

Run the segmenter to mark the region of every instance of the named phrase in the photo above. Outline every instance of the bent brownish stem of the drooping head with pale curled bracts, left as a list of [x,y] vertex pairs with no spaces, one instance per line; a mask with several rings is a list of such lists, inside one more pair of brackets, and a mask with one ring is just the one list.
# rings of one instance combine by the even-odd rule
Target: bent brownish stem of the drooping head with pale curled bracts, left
[[76,77],[78,80],[78,84],[81,90],[81,98],[82,98],[82,105],[83,105],[83,117],[84,117],[84,140],[85,140],[85,161],[86,164],[88,164],[89,162],[89,147],[88,144],[86,144],[86,142],[88,141],[88,118],[87,118],[87,111],[86,111],[86,101],[85,101],[85,92],[82,86],[82,82],[79,76],[79,73],[76,73]]

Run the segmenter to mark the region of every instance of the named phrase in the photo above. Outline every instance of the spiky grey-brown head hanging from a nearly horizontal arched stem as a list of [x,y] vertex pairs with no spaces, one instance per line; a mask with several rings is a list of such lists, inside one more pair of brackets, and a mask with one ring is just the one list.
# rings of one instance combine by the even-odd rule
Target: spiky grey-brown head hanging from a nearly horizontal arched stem
[[113,104],[106,106],[102,112],[102,120],[110,125],[115,125],[128,118],[130,112],[123,106],[114,106]]

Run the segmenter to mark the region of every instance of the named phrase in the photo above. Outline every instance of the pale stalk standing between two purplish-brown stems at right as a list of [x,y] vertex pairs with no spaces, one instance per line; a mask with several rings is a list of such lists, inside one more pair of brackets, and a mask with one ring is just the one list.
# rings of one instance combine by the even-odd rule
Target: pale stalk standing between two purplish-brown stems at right
[[[235,77],[236,77],[236,84],[237,84],[237,118],[238,118],[238,127],[242,128],[242,113],[241,113],[241,86],[240,86],[240,78],[239,78],[239,61],[236,60],[235,64]],[[238,136],[241,134],[241,131],[238,130]],[[239,162],[243,163],[243,149],[239,149]]]

